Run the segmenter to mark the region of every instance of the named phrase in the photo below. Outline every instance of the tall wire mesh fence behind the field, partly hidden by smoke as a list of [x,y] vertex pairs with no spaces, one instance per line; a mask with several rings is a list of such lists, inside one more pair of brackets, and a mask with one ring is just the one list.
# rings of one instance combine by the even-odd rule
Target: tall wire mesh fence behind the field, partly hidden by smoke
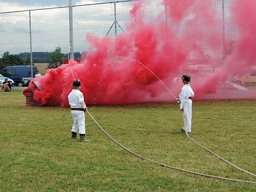
[[[114,39],[117,34],[127,33],[131,30],[129,28],[131,26],[127,27],[132,19],[130,11],[132,4],[138,2],[140,1],[72,6],[73,51],[79,53],[90,51],[90,43],[86,38],[87,33],[93,33],[98,37],[109,36]],[[200,8],[207,7],[213,20],[210,25],[203,22],[205,10],[196,11],[196,14],[192,10],[190,15],[183,17],[180,22],[176,22],[178,15],[173,15],[172,7],[168,9],[162,1],[141,2],[145,22],[154,23],[155,27],[159,27],[159,22],[163,22],[172,28],[177,37],[182,37],[185,33],[195,30],[198,30],[198,33],[202,30],[211,31],[211,34],[214,32],[221,43],[217,42],[211,47],[204,44],[204,49],[210,50],[208,51],[210,54],[213,49],[215,49],[214,52],[223,53],[224,45],[238,37],[238,31],[235,30],[235,25],[231,21],[231,0],[198,1],[199,3],[194,9],[200,10]],[[208,5],[205,5],[206,3]],[[68,54],[70,52],[69,9],[70,7],[67,6],[0,13],[2,26],[0,55],[5,52],[11,54],[32,52],[33,62],[36,62],[36,58],[40,54],[48,54],[56,47],[60,47],[62,53]],[[195,17],[196,20],[191,19]],[[140,25],[135,24],[132,27],[140,27]],[[207,39],[206,36],[203,38]]]

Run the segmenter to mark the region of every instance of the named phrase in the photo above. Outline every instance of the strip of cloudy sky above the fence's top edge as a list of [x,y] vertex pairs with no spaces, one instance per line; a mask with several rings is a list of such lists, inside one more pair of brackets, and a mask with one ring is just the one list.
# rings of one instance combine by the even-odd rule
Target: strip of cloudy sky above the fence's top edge
[[[72,0],[72,3],[73,5],[86,5],[113,1],[115,0]],[[68,5],[69,0],[0,0],[0,13]]]

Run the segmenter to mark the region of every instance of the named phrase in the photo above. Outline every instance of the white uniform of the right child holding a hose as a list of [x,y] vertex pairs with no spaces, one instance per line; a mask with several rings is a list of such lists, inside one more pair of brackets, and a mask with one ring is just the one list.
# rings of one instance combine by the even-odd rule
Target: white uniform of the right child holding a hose
[[182,91],[179,94],[179,99],[181,101],[180,109],[182,111],[182,117],[184,121],[184,129],[187,132],[191,132],[191,121],[192,121],[192,100],[194,97],[194,92],[191,89],[189,84],[184,84],[182,87]]

